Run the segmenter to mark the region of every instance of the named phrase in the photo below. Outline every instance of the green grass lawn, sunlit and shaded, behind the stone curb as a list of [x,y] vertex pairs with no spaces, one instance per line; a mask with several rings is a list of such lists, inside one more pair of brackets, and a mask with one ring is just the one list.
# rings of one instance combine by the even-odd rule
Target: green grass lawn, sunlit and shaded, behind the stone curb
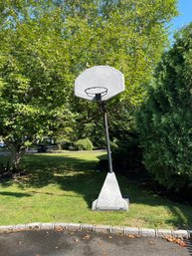
[[[148,228],[191,228],[192,207],[174,203],[117,175],[128,212],[92,211],[106,172],[96,171],[104,152],[26,154],[28,175],[0,184],[0,224],[74,222]],[[3,156],[0,156],[0,162]]]

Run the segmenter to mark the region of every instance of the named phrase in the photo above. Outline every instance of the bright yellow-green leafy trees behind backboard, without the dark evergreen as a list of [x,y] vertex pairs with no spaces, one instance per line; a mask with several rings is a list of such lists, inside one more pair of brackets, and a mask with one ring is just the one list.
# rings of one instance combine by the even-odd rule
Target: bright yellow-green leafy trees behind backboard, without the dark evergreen
[[[167,46],[164,23],[177,14],[176,3],[0,3],[0,135],[11,150],[22,152],[26,139],[61,137],[66,127],[77,130],[76,139],[96,134],[94,140],[102,143],[96,106],[74,100],[75,78],[91,66],[113,66],[126,84],[117,102],[137,106]],[[115,106],[116,101],[113,113]]]

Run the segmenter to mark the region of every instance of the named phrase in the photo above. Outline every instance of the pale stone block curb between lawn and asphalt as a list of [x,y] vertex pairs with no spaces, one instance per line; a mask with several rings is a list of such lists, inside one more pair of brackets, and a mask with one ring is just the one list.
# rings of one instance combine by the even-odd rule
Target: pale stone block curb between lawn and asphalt
[[94,225],[81,223],[29,223],[0,226],[0,234],[27,230],[56,230],[56,231],[93,231],[104,234],[121,234],[143,237],[166,237],[192,238],[192,230],[170,230],[170,229],[149,229],[139,227],[123,227],[109,225]]

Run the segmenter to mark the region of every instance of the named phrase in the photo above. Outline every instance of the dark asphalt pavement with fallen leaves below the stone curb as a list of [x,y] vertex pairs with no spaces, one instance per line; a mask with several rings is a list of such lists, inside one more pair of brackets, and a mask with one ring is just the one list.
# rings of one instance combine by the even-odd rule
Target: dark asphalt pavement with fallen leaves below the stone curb
[[31,230],[0,234],[0,256],[191,256],[163,238],[127,237],[92,231]]

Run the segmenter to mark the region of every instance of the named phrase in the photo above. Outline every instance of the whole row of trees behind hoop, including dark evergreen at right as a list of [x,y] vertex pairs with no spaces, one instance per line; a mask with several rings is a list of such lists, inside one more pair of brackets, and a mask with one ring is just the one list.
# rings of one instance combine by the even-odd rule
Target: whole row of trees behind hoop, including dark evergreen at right
[[[187,101],[178,100],[186,93],[185,81],[190,88],[190,58],[185,53],[189,48],[175,43],[161,61],[176,5],[176,0],[4,0],[0,4],[0,136],[11,150],[6,168],[18,169],[26,147],[44,135],[67,140],[90,137],[97,146],[103,144],[97,106],[75,99],[74,81],[89,67],[108,65],[125,77],[125,92],[107,107],[114,147],[122,141],[138,141],[144,163],[156,178],[157,173],[162,179],[172,177],[175,169],[177,176],[181,169],[185,172],[184,158],[190,173],[191,150],[186,144],[191,143],[191,94]],[[176,42],[184,42],[188,32],[179,33]],[[179,75],[183,65],[189,68]],[[139,113],[136,118],[135,113]],[[177,153],[180,145],[183,149]]]

